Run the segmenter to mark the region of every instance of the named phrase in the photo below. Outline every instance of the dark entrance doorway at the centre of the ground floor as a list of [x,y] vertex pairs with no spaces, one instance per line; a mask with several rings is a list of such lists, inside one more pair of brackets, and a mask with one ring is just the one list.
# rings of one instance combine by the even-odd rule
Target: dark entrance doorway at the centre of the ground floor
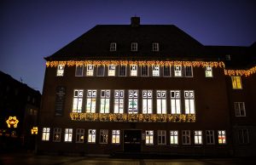
[[139,152],[141,151],[141,130],[124,130],[124,151]]

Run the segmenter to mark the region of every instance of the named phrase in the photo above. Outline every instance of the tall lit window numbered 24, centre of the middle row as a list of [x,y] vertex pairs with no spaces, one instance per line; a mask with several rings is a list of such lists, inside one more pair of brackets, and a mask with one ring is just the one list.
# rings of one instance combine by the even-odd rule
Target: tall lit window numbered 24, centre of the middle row
[[129,90],[129,100],[128,100],[128,113],[133,114],[137,113],[137,98],[138,91],[137,90]]

